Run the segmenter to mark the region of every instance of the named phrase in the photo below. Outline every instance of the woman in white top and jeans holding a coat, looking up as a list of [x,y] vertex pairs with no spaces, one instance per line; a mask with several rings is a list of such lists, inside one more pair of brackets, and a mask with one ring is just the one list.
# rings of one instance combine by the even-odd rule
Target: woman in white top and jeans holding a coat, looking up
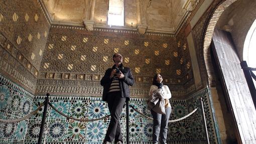
[[[153,85],[150,87],[150,102],[152,104],[152,99],[154,102],[164,100],[164,104],[156,104],[159,109],[165,109],[162,113],[159,113],[159,110],[155,110],[156,108],[151,109],[151,113],[153,115],[153,143],[158,143],[159,134],[160,134],[160,143],[165,144],[167,139],[167,131],[168,131],[168,121],[171,115],[172,107],[169,102],[169,99],[172,97],[170,89],[167,85],[163,85],[163,78],[160,74],[156,74],[153,78]],[[157,96],[157,98],[156,98]],[[153,98],[155,97],[155,98]],[[153,103],[154,103],[153,102]],[[163,101],[162,101],[163,102]],[[157,109],[158,109],[157,108]],[[156,112],[157,111],[157,112]]]

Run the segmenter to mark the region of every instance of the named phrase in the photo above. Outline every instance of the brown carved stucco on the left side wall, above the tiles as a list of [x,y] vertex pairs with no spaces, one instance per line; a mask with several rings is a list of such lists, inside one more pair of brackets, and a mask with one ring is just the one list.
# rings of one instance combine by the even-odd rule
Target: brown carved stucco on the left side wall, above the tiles
[[38,1],[1,1],[0,6],[0,69],[34,92],[50,24]]

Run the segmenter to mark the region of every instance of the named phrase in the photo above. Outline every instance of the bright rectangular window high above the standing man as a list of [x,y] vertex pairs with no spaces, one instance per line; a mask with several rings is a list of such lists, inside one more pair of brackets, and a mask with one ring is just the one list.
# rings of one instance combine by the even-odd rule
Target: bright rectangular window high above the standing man
[[123,26],[124,25],[124,0],[109,0],[107,25]]

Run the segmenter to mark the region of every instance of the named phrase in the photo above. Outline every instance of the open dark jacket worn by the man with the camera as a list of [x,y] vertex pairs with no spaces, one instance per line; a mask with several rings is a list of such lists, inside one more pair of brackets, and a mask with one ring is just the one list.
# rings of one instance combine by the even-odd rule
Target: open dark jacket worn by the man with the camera
[[[106,70],[105,75],[100,80],[100,85],[103,86],[103,94],[102,94],[102,100],[107,100],[107,93],[110,87],[110,84],[112,82],[113,78],[109,78],[110,74],[112,72],[112,68],[109,68]],[[123,70],[121,71],[124,75],[123,79],[119,79],[119,86],[121,90],[121,97],[126,97],[126,100],[130,99],[130,88],[129,86],[133,86],[134,84],[134,77],[131,72],[131,69],[128,67],[123,67]]]

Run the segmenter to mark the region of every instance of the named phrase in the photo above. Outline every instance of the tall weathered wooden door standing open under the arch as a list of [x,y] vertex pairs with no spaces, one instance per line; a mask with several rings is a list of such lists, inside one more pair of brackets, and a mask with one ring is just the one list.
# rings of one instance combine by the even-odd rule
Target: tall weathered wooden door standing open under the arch
[[256,110],[231,35],[215,29],[212,40],[240,140],[256,143]]

